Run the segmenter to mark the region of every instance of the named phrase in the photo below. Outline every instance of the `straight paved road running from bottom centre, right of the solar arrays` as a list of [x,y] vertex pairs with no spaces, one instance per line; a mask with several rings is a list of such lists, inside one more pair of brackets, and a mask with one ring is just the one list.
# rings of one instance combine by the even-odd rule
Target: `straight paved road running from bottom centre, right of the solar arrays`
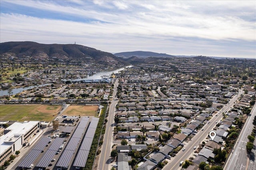
[[109,106],[109,113],[108,113],[108,122],[106,124],[106,131],[104,135],[104,141],[102,144],[101,154],[100,154],[100,161],[98,170],[109,170],[110,165],[110,152],[112,149],[112,136],[114,131],[114,117],[115,117],[115,110],[116,110],[116,104],[118,103],[118,100],[116,96],[118,86],[118,79],[116,79],[116,82],[114,83],[114,92],[113,92],[113,98],[114,100],[111,102]]

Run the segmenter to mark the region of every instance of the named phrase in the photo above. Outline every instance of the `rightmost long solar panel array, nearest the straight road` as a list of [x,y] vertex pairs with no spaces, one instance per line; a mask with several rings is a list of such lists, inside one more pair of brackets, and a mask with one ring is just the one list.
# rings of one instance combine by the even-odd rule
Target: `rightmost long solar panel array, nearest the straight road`
[[92,146],[92,140],[94,138],[94,134],[97,128],[99,122],[98,117],[93,117],[92,121],[87,129],[87,132],[84,136],[84,140],[80,146],[80,149],[78,151],[78,154],[76,156],[76,160],[73,164],[73,166],[78,166],[78,167],[85,167],[86,160],[88,158],[90,148]]

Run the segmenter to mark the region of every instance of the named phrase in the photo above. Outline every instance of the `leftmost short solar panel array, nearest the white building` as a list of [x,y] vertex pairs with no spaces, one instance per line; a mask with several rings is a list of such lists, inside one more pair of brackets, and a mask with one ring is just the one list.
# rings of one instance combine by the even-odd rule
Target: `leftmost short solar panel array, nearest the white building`
[[18,165],[22,168],[30,168],[31,164],[34,162],[34,160],[38,157],[38,155],[44,150],[44,147],[50,142],[51,138],[44,137],[42,138],[36,146],[28,153],[27,156],[24,157],[22,162]]

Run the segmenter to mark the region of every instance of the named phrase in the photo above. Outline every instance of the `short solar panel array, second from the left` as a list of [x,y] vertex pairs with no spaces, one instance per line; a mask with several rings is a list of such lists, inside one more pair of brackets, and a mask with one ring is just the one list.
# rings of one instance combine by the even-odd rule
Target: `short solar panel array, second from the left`
[[62,144],[62,142],[64,142],[64,140],[65,140],[64,138],[56,138],[52,142],[51,146],[49,146],[48,150],[46,150],[42,158],[38,161],[36,166],[47,168],[47,166],[50,164],[52,158],[54,157],[54,155],[56,154],[56,152],[58,151],[60,145]]

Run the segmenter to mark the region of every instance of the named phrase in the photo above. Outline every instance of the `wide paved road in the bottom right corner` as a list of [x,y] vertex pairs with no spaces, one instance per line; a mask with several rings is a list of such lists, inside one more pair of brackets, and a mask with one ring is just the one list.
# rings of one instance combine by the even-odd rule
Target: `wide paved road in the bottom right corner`
[[[238,136],[237,142],[234,145],[234,148],[228,157],[227,163],[224,166],[225,170],[252,170],[256,169],[256,162],[250,160],[246,153],[246,143],[248,142],[247,136],[252,132],[252,121],[256,115],[256,105],[252,108],[251,116],[249,116],[244,124],[244,127],[241,130],[240,135]],[[255,146],[254,142],[254,146]],[[255,153],[255,150],[253,150]],[[254,168],[253,168],[254,166]]]

